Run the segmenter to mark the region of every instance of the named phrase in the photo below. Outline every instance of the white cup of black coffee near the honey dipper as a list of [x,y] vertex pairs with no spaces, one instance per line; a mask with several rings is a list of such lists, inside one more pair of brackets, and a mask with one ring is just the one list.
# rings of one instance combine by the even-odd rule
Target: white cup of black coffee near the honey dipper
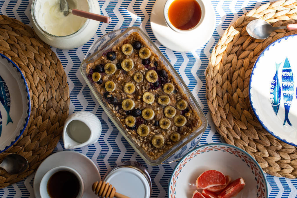
[[42,177],[39,190],[42,198],[81,198],[83,178],[73,168],[56,167]]

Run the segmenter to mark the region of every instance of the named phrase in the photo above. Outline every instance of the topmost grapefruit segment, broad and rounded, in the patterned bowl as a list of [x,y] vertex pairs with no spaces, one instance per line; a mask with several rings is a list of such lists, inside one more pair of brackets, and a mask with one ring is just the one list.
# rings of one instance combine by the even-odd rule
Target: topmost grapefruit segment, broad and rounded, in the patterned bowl
[[207,189],[213,186],[222,186],[225,184],[225,175],[217,170],[207,170],[196,180],[196,187],[198,189]]

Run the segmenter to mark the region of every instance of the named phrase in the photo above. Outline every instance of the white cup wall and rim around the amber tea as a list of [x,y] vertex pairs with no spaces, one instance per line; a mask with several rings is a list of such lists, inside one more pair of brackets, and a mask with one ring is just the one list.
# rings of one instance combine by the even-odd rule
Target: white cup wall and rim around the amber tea
[[200,5],[200,8],[201,8],[201,18],[200,18],[200,21],[197,23],[196,26],[192,27],[191,29],[188,29],[188,30],[181,30],[181,29],[178,29],[176,27],[174,27],[172,25],[172,23],[170,22],[169,20],[169,17],[168,17],[168,9],[171,5],[171,3],[173,2],[174,0],[167,0],[165,5],[164,5],[164,18],[165,18],[165,22],[167,23],[167,25],[173,29],[174,31],[176,32],[179,32],[179,33],[189,33],[190,31],[193,31],[195,30],[196,28],[198,28],[200,26],[200,24],[202,23],[202,21],[204,20],[204,16],[205,16],[205,6],[203,4],[203,1],[202,0],[196,0],[197,3]]

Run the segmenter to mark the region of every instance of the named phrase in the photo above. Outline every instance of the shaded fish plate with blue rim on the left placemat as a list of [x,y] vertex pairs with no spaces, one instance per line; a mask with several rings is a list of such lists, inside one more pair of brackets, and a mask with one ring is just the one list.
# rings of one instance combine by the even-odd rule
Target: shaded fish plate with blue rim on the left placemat
[[19,67],[0,54],[0,153],[23,134],[30,116],[30,94]]

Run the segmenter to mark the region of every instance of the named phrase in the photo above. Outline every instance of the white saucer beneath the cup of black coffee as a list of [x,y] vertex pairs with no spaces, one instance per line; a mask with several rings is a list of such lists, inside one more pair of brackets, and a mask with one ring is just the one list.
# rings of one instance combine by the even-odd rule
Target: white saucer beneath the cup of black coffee
[[34,176],[34,194],[36,198],[40,198],[39,186],[43,175],[45,175],[45,173],[50,169],[59,166],[67,166],[80,173],[85,186],[83,197],[98,198],[91,188],[95,181],[101,180],[100,173],[96,165],[87,156],[74,151],[61,151],[54,153],[40,164]]

